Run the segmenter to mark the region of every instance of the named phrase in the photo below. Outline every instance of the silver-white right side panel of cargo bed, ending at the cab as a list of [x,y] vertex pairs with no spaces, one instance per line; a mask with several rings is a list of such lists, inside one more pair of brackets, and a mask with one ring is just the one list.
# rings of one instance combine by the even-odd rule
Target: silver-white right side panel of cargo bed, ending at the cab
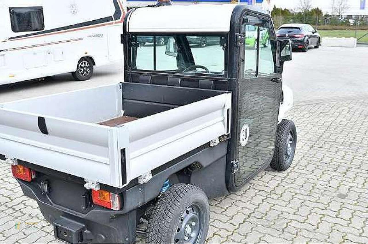
[[191,150],[228,134],[231,94],[226,93],[125,124],[130,134],[134,179]]

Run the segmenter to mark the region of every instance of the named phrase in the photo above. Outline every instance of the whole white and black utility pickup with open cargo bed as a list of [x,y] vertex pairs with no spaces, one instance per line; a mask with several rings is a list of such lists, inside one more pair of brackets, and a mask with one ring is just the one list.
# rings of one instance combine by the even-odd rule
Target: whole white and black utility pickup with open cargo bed
[[[245,45],[247,26],[269,45]],[[124,82],[2,104],[1,157],[60,240],[204,243],[208,198],[293,161],[290,40],[229,4],[132,9],[121,41]]]

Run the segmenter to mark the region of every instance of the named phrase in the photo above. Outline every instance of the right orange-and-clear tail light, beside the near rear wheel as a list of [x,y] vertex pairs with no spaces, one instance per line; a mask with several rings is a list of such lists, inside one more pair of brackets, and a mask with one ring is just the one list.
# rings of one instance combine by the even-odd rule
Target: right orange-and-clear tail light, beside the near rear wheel
[[112,210],[121,209],[121,196],[105,190],[92,190],[92,201],[94,204],[110,208]]

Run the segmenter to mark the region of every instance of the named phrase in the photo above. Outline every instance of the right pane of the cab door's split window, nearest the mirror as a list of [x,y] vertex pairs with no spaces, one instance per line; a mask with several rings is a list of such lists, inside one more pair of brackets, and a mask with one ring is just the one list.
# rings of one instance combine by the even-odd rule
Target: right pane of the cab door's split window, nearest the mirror
[[260,49],[258,76],[269,75],[274,72],[275,57],[273,55],[273,46],[275,40],[272,40],[272,32],[269,22],[260,27]]

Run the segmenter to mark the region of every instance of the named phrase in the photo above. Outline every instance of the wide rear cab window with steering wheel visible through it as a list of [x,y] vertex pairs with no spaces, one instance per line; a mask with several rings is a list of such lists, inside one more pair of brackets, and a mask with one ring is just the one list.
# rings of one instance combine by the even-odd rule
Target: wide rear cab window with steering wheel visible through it
[[226,74],[225,35],[137,35],[129,43],[131,70]]

